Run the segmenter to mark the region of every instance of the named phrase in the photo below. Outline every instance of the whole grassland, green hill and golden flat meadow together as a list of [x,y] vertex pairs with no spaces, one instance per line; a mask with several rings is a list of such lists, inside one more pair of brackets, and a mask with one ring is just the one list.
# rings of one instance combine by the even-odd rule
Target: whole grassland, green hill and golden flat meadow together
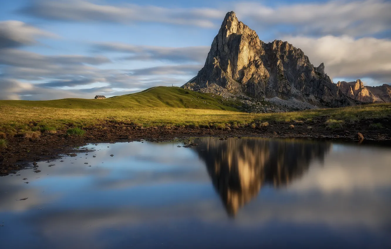
[[[0,133],[51,132],[68,128],[99,127],[107,121],[139,126],[221,127],[265,121],[308,121],[324,116],[325,126],[338,127],[350,121],[391,116],[391,104],[371,104],[278,114],[248,114],[239,103],[220,96],[187,91],[179,87],[156,87],[139,94],[105,100],[62,99],[50,101],[0,101]],[[0,137],[1,138],[1,137]]]

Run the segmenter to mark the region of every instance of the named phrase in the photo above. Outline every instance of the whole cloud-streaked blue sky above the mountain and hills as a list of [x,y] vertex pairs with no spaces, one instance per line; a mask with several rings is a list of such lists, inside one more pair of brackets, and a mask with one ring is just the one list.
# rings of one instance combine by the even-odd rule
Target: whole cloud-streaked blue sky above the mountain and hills
[[113,96],[183,85],[226,12],[288,41],[337,82],[391,82],[391,2],[1,0],[0,99]]

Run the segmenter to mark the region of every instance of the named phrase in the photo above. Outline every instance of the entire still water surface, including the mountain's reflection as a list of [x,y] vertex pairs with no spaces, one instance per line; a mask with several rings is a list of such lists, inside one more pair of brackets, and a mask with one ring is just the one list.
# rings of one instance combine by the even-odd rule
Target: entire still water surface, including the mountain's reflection
[[194,142],[88,145],[1,177],[0,247],[391,248],[390,147]]

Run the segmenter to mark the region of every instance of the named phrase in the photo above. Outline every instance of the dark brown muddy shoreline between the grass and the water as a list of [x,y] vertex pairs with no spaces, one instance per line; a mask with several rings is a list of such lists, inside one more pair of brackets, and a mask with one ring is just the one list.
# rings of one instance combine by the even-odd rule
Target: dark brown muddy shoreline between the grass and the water
[[[345,124],[339,128],[328,128],[326,118],[319,117],[310,123],[269,121],[269,125],[251,127],[228,127],[224,129],[200,127],[150,127],[143,128],[134,124],[100,123],[99,128],[86,128],[83,137],[67,136],[65,131],[42,133],[38,139],[8,137],[8,146],[0,151],[0,176],[25,167],[32,162],[55,160],[60,155],[80,152],[78,146],[103,142],[152,141],[163,142],[188,137],[265,137],[265,138],[307,138],[307,139],[339,139],[359,142],[357,133],[364,135],[363,143],[384,144],[391,142],[391,117],[367,119]],[[382,128],[373,130],[370,124],[381,123]],[[294,127],[292,128],[291,125]],[[308,128],[310,126],[311,128]]]

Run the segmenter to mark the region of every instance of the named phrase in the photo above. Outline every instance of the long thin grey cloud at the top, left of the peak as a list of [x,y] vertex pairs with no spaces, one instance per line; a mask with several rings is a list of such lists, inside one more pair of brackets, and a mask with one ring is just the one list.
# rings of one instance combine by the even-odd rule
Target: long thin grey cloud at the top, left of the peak
[[214,9],[168,9],[157,6],[99,5],[83,0],[48,1],[38,0],[21,10],[47,20],[66,21],[108,21],[115,23],[168,23],[213,27],[211,18],[224,15]]

